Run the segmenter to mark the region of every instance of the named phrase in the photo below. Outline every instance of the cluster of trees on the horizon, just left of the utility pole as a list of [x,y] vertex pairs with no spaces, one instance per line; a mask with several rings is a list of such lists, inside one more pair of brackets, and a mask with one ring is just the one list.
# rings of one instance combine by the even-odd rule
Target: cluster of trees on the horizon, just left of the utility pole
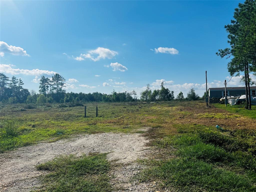
[[184,95],[181,91],[175,98],[174,91],[170,91],[168,88],[165,88],[163,81],[161,82],[161,89],[155,89],[152,92],[149,84],[147,84],[146,90],[142,91],[140,94],[142,101],[171,101],[174,99],[193,101],[198,100],[200,98],[199,95],[195,93],[194,89],[190,89],[190,91],[187,93],[186,98],[184,98]]

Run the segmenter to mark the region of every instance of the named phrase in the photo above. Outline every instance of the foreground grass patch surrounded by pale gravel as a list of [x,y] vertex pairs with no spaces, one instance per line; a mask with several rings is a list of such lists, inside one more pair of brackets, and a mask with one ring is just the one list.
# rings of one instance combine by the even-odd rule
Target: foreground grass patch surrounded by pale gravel
[[61,156],[36,167],[49,172],[41,177],[42,186],[37,192],[112,191],[106,154]]

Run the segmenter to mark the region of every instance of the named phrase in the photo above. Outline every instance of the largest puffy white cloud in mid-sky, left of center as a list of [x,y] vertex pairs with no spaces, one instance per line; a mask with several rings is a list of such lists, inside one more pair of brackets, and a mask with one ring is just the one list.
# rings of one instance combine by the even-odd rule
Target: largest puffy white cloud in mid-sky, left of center
[[74,58],[75,60],[82,61],[84,59],[91,59],[93,61],[99,61],[100,59],[112,59],[118,52],[112,51],[107,48],[98,47],[97,49],[93,49],[88,51],[86,54],[80,54],[79,57]]

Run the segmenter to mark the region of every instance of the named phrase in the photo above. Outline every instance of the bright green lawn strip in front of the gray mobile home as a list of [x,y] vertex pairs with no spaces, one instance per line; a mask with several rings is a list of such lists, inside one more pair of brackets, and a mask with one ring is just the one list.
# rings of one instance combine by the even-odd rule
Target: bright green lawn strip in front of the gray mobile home
[[224,104],[213,104],[215,107],[224,109],[230,113],[236,113],[239,115],[247,116],[249,118],[256,119],[256,105],[252,105],[252,110],[244,109],[244,106],[241,105],[229,105],[226,107]]

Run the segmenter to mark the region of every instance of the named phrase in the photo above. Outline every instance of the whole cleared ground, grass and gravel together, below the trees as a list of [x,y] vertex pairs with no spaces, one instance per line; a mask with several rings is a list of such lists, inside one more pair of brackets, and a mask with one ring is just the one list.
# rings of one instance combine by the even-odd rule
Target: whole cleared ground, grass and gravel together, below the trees
[[85,105],[87,118],[81,106],[1,105],[2,189],[256,190],[254,108],[206,108],[200,101]]

